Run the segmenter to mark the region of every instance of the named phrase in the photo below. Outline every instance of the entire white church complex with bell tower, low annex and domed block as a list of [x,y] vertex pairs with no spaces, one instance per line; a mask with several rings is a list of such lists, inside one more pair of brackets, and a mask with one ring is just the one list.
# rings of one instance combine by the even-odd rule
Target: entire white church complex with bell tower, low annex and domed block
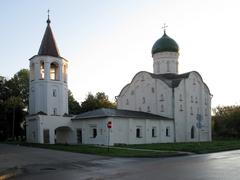
[[178,74],[179,47],[165,30],[152,47],[153,73],[138,72],[117,96],[117,109],[70,116],[68,60],[60,56],[50,23],[48,18],[38,54],[30,58],[28,142],[211,141],[212,95],[198,72]]

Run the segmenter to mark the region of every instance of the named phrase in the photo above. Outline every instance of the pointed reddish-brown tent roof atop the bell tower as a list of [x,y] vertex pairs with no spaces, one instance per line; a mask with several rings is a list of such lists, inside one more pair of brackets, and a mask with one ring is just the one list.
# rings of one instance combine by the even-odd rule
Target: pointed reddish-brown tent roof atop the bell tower
[[45,30],[38,55],[48,55],[53,57],[60,57],[56,41],[54,39],[52,29],[50,26],[51,21],[47,20],[47,28]]

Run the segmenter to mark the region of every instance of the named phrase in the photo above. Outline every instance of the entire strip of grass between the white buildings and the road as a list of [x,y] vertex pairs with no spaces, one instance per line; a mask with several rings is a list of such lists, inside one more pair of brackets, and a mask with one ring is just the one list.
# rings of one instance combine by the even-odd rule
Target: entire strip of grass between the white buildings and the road
[[[16,142],[12,142],[16,144]],[[240,149],[240,140],[214,140],[212,142],[191,142],[191,143],[162,143],[162,144],[137,144],[122,145],[109,149],[93,145],[63,145],[63,144],[31,144],[17,143],[24,146],[47,148],[68,152],[95,154],[112,157],[169,157],[186,155],[187,153],[211,153],[227,150]]]

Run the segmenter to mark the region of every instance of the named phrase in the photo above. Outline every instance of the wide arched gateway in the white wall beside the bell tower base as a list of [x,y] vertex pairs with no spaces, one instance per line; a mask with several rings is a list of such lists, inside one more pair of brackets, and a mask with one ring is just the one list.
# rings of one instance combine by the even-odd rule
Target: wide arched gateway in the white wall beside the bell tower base
[[71,143],[73,131],[70,127],[62,126],[55,129],[55,143],[69,144]]

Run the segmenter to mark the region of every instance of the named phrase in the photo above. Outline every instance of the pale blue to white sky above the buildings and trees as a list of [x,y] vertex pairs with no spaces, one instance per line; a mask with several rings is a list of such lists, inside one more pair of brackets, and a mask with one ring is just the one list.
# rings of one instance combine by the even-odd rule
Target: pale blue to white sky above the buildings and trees
[[105,92],[114,100],[139,71],[153,72],[151,48],[162,26],[180,47],[179,73],[198,71],[212,107],[240,105],[238,0],[0,1],[0,75],[29,68],[46,28],[69,61],[76,100]]

